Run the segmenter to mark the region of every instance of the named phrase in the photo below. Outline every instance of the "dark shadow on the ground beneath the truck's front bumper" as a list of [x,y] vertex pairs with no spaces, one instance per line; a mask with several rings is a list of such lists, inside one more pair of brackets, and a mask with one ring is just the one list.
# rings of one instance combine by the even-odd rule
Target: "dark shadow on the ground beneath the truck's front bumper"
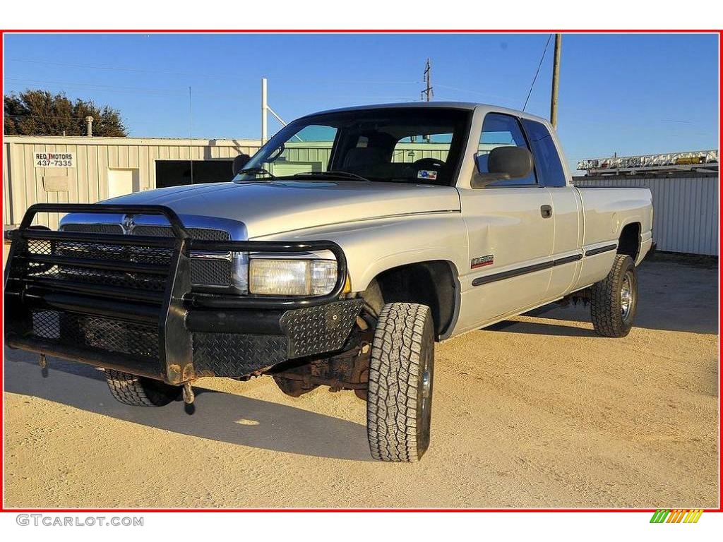
[[103,372],[91,366],[48,358],[48,378],[43,378],[37,356],[6,349],[4,358],[7,392],[202,439],[315,457],[372,461],[367,430],[359,423],[202,387],[194,388],[197,398],[192,416],[180,401],[161,408],[131,407],[114,400]]

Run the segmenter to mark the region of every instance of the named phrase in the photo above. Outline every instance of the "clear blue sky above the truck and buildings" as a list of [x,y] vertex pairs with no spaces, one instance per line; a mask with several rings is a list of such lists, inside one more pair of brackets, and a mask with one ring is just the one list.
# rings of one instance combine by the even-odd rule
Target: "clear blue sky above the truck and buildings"
[[[362,103],[521,108],[547,41],[536,35],[6,35],[6,92],[64,90],[121,110],[133,136],[260,136],[260,78],[286,121]],[[527,111],[549,115],[552,42]],[[96,66],[95,68],[90,66]],[[718,148],[716,35],[564,35],[558,132],[568,162]],[[106,69],[99,69],[106,68]],[[112,68],[112,69],[111,69]],[[270,132],[280,126],[270,121]]]

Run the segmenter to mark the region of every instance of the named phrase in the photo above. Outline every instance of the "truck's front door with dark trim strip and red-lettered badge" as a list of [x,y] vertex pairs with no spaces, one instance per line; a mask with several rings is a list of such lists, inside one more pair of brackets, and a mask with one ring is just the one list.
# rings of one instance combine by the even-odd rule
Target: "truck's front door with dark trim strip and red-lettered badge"
[[[482,169],[484,157],[502,145],[530,148],[519,119],[487,113],[479,139]],[[555,227],[552,197],[536,173],[459,192],[469,235],[469,267],[461,270],[466,300],[460,328],[492,322],[547,298]]]

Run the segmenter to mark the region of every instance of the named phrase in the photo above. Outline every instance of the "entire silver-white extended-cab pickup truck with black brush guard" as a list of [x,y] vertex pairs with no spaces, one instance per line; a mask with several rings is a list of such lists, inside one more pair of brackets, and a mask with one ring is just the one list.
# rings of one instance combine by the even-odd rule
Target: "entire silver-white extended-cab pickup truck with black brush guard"
[[[571,297],[599,335],[633,325],[651,194],[574,187],[544,119],[470,103],[327,111],[234,174],[31,207],[6,269],[7,344],[103,367],[129,405],[191,403],[211,376],[354,390],[372,456],[415,461],[435,342]],[[69,214],[49,231],[38,212]]]

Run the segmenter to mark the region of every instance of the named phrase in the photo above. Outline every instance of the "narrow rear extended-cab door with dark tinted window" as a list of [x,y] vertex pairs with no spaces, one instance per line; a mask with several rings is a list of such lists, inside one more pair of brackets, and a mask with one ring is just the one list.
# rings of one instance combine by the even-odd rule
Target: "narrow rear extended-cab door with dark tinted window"
[[582,264],[582,202],[578,191],[568,183],[562,166],[562,151],[541,122],[522,119],[532,156],[537,180],[549,190],[552,197],[552,220],[555,224],[555,242],[552,246],[552,276],[547,295],[555,298],[568,293]]

